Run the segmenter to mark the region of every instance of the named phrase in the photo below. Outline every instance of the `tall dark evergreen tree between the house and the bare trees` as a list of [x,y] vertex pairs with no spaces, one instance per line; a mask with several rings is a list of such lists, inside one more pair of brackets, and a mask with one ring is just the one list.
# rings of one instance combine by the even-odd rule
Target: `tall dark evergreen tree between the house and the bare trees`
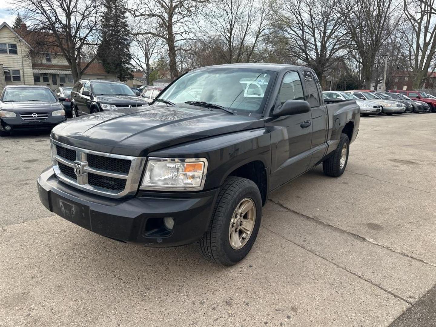
[[122,0],[105,0],[105,13],[101,21],[102,42],[97,56],[106,72],[116,74],[120,81],[132,78],[130,54],[131,37]]

